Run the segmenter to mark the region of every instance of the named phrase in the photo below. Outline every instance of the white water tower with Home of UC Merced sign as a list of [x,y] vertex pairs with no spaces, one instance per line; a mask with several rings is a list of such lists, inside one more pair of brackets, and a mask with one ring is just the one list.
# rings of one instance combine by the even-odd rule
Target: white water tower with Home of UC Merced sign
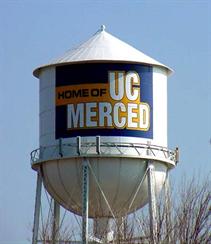
[[177,152],[167,148],[171,72],[104,26],[35,69],[40,146],[31,153],[38,174],[34,243],[42,182],[57,208],[82,216],[83,243],[88,217],[100,236],[109,218],[121,218],[148,202],[152,234],[156,231],[155,194],[177,161]]

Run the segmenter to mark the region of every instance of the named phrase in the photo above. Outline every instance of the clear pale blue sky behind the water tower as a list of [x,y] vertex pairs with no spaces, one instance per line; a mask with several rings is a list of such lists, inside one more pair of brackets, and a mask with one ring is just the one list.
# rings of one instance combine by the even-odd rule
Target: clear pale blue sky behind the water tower
[[174,182],[211,172],[211,1],[0,0],[0,244],[27,243],[39,147],[32,71],[106,31],[170,66],[168,144],[180,148]]

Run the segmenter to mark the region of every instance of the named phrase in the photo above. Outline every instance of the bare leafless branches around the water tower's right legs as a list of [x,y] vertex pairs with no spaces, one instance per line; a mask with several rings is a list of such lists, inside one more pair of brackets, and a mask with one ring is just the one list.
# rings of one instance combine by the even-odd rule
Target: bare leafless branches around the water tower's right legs
[[[172,196],[168,212],[164,196],[158,199],[156,235],[159,244],[208,244],[211,243],[211,182],[200,183],[196,179],[184,181]],[[170,216],[169,216],[170,215]],[[134,220],[138,233],[145,236],[140,243],[150,243],[149,217],[146,210]]]

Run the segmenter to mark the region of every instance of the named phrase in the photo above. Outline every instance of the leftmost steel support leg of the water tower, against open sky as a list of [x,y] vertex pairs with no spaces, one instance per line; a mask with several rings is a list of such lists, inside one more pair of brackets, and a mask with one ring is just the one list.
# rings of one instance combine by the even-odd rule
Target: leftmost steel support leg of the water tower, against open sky
[[42,193],[42,177],[41,177],[40,171],[38,170],[37,171],[37,186],[36,186],[36,198],[35,198],[35,209],[34,209],[34,225],[33,225],[32,244],[37,244],[37,240],[38,240],[41,193]]

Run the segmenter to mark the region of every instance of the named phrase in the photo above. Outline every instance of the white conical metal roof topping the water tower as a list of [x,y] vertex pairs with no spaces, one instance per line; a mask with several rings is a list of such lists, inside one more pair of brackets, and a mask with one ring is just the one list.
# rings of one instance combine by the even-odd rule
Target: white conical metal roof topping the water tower
[[121,41],[105,31],[105,26],[97,31],[88,41],[82,43],[76,48],[70,49],[61,57],[53,60],[51,63],[38,67],[33,74],[39,77],[39,71],[49,66],[58,66],[61,64],[70,64],[78,62],[135,62],[161,66],[167,69],[168,74],[172,70],[166,65],[145,55],[136,48]]

